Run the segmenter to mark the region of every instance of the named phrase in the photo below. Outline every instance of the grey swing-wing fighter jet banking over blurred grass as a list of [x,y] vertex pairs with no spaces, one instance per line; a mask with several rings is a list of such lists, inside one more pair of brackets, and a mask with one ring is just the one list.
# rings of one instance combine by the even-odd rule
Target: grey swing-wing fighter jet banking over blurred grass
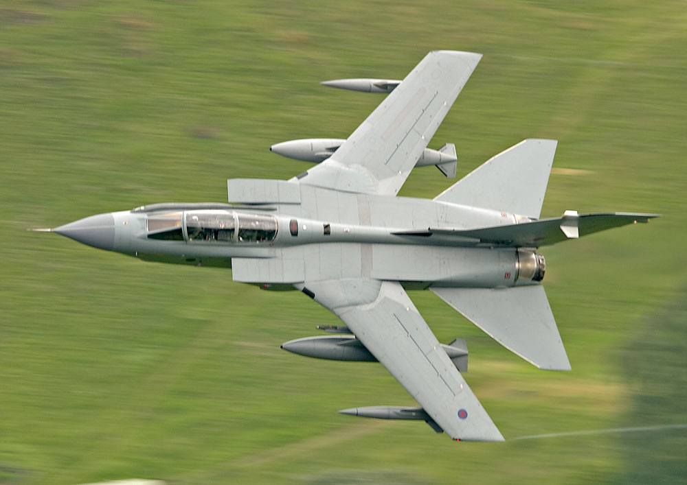
[[228,203],[140,206],[52,231],[144,261],[231,268],[234,281],[303,292],[345,325],[282,348],[379,361],[418,403],[341,412],[426,421],[454,440],[502,441],[461,375],[464,340],[440,344],[406,290],[429,289],[538,368],[570,370],[537,250],[657,215],[539,219],[557,143],[545,139],[517,143],[431,200],[396,196],[418,165],[455,175],[455,147],[427,144],[481,58],[432,51],[400,81],[324,83],[388,94],[348,139],[273,145],[319,162],[289,180],[230,179]]

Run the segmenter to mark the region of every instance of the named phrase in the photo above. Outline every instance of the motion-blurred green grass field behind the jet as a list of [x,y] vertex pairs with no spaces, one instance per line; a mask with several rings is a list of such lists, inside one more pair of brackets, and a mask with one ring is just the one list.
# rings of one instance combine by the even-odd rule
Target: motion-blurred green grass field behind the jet
[[[346,137],[382,99],[319,81],[403,78],[431,49],[484,54],[429,145],[456,143],[459,177],[554,138],[543,216],[664,215],[542,251],[572,372],[411,293],[466,338],[505,443],[337,414],[413,401],[379,364],[281,351],[337,323],[300,293],[26,232],[290,178],[308,165],[269,145]],[[683,1],[3,0],[0,483],[685,480],[686,429],[508,440],[687,423],[686,80]],[[401,195],[451,183],[417,169]]]

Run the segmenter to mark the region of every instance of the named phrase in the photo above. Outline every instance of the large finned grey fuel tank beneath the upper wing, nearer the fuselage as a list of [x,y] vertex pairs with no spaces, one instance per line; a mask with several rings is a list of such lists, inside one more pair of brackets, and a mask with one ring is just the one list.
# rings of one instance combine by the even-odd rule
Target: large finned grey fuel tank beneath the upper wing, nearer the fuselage
[[[275,143],[269,150],[288,158],[295,158],[306,162],[320,163],[332,156],[334,152],[346,141],[340,138],[306,138],[300,140],[282,141]],[[458,167],[458,156],[455,154],[455,145],[446,143],[439,150],[425,148],[416,162],[416,167],[436,165],[447,177],[455,177]]]

